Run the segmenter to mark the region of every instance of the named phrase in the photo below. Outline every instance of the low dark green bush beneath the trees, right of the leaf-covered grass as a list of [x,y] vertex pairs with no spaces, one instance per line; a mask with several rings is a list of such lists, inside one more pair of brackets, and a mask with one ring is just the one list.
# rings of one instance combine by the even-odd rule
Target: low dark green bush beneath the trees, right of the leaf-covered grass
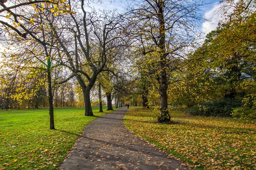
[[233,109],[242,105],[243,103],[236,99],[212,100],[189,108],[188,113],[197,116],[231,116]]

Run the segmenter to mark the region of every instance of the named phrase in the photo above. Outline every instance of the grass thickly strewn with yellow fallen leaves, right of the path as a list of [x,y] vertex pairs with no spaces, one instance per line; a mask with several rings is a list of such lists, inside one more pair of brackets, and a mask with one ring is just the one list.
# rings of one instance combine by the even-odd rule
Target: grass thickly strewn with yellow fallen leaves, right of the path
[[190,116],[171,111],[159,124],[150,109],[131,107],[125,125],[196,169],[255,170],[256,120]]

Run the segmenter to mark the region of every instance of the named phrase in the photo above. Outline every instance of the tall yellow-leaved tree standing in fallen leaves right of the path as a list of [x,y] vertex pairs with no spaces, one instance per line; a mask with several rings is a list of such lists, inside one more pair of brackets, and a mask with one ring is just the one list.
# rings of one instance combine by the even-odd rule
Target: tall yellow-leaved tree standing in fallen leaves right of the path
[[195,38],[200,22],[196,13],[201,0],[143,0],[129,6],[127,34],[134,36],[137,51],[147,57],[151,77],[157,81],[160,94],[159,122],[169,122],[168,87],[175,82],[183,54]]

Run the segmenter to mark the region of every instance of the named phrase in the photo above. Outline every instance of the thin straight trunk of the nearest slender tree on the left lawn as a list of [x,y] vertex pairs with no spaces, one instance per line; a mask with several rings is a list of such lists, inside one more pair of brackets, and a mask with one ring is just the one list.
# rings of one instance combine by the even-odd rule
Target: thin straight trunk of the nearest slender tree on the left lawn
[[52,77],[51,71],[47,70],[47,82],[48,82],[48,101],[49,101],[49,115],[50,115],[50,129],[54,127],[54,114],[53,114],[53,94],[52,94]]

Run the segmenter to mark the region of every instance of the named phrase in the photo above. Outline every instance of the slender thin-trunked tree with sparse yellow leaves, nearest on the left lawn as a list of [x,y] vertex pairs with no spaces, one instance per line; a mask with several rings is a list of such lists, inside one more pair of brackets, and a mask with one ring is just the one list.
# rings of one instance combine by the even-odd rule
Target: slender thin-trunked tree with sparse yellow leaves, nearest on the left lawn
[[[0,29],[6,36],[8,45],[14,45],[16,49],[12,49],[12,54],[6,56],[11,58],[14,69],[19,67],[21,70],[44,71],[48,85],[50,129],[55,129],[52,91],[55,83],[52,84],[52,71],[59,65],[57,60],[61,54],[58,51],[54,30],[58,15],[67,13],[68,6],[64,1],[15,1],[9,4],[14,5],[7,7],[0,4],[0,14],[6,15],[5,19],[4,15],[1,15]],[[62,82],[66,81],[67,79]]]

